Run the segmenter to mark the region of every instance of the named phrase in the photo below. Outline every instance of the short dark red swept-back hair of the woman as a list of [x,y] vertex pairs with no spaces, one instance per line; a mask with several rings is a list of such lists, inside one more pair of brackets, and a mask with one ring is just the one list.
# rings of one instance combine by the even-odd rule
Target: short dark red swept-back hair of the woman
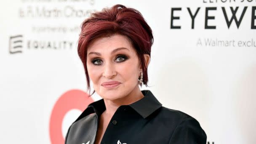
[[83,62],[89,91],[90,79],[86,67],[88,45],[96,38],[109,37],[114,34],[124,35],[130,40],[140,59],[143,83],[148,86],[147,66],[143,54],[150,56],[154,40],[152,30],[136,9],[127,8],[124,5],[114,5],[111,8],[103,8],[102,11],[91,13],[91,16],[85,19],[81,25],[77,51]]

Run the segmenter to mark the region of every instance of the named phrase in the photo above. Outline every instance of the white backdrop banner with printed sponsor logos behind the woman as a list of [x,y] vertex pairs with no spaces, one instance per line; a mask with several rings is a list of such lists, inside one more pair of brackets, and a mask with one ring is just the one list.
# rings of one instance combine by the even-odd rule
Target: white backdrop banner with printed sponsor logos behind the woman
[[5,0],[0,5],[0,143],[64,144],[93,101],[80,25],[115,4],[139,10],[155,42],[149,89],[195,117],[207,144],[256,144],[256,0]]

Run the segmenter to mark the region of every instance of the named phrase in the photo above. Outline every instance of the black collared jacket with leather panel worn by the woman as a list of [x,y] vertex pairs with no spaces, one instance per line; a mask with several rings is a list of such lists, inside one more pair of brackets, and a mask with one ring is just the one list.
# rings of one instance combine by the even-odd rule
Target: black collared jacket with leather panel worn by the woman
[[[101,144],[206,144],[206,134],[195,118],[162,107],[149,90],[141,92],[144,98],[117,109]],[[65,144],[94,144],[105,109],[103,99],[89,104],[69,127]]]

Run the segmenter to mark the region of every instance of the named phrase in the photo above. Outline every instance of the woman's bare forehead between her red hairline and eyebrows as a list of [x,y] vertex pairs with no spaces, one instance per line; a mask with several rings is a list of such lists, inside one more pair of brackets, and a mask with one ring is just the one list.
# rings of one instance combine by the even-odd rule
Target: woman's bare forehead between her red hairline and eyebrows
[[131,52],[135,52],[135,49],[133,48],[128,37],[115,34],[109,37],[100,37],[96,40],[93,40],[88,46],[87,53],[90,53],[91,51],[108,53],[115,50],[116,48],[127,48]]

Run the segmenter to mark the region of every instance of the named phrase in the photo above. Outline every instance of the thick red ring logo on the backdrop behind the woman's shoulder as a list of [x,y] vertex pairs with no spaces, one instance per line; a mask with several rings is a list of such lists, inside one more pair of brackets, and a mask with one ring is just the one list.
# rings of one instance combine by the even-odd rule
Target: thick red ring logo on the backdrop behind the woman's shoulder
[[67,112],[71,109],[84,111],[92,102],[93,99],[81,90],[70,90],[60,96],[51,112],[49,125],[51,144],[64,144],[65,140],[61,132],[61,126]]

